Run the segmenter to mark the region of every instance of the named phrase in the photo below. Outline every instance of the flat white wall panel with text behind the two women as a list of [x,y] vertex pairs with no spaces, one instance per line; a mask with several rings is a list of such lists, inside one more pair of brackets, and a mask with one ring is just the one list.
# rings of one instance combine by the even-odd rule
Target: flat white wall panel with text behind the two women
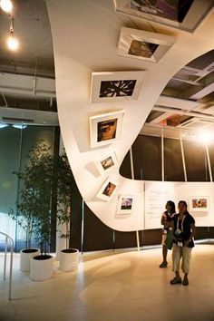
[[[193,198],[209,200],[208,210],[190,209]],[[186,200],[197,227],[214,226],[214,183],[145,181],[145,229],[160,229],[160,219],[168,200]]]

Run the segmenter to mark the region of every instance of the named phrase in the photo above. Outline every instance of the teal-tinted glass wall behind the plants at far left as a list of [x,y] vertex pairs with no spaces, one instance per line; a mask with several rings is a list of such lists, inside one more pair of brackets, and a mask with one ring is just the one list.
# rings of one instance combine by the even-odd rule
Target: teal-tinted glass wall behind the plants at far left
[[[18,191],[22,188],[14,172],[24,169],[28,151],[40,140],[44,140],[53,151],[54,127],[27,126],[18,129],[9,125],[0,129],[0,231],[14,238],[16,250],[24,247],[25,233],[7,215],[10,209],[16,213]],[[0,247],[4,239],[0,236]]]

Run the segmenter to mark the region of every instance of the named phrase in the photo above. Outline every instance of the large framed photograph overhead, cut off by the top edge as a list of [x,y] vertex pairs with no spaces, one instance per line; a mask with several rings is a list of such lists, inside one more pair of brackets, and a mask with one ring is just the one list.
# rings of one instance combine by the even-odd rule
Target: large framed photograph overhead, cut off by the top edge
[[115,10],[193,33],[211,12],[212,0],[114,0]]

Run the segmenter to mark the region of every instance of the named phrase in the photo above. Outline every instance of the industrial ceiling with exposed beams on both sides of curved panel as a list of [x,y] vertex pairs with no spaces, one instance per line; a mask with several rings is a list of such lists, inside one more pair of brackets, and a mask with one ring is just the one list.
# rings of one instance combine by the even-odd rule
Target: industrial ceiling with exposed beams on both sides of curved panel
[[[9,20],[0,11],[1,122],[5,107],[20,111],[57,111],[54,84],[49,81],[54,79],[53,42],[45,1],[15,0],[14,5],[15,35],[21,44],[17,53],[9,52],[5,46]],[[151,25],[140,18],[123,15],[123,22],[128,27],[135,25],[151,31]],[[141,133],[160,135],[164,130],[167,136],[179,137],[180,132],[205,128],[214,131],[213,70],[214,50],[184,66],[164,88]],[[20,75],[24,75],[24,88]],[[39,87],[41,82],[43,85]]]

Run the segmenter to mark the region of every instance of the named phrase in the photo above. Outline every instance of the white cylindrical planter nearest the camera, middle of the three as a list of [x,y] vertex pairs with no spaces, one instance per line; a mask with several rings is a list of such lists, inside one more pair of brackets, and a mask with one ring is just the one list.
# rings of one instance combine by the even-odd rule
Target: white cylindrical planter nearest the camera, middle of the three
[[53,257],[51,255],[39,255],[31,259],[31,279],[44,281],[53,277]]

